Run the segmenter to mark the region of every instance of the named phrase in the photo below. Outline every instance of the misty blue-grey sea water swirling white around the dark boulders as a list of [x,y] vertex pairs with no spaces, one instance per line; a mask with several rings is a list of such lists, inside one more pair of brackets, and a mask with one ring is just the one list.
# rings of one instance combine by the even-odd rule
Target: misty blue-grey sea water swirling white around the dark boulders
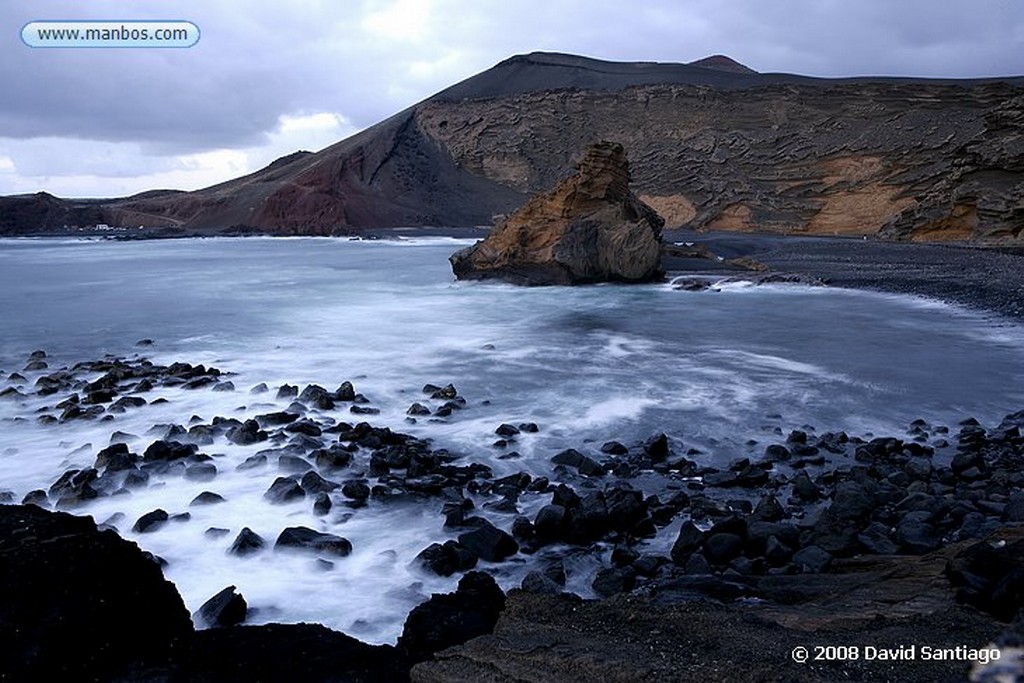
[[[19,500],[63,471],[91,466],[115,431],[153,440],[155,424],[193,416],[251,417],[283,410],[283,383],[330,390],[350,380],[381,410],[370,421],[430,437],[496,475],[551,475],[564,447],[596,454],[666,432],[677,450],[698,449],[702,464],[760,455],[780,438],[770,429],[902,434],[924,418],[955,425],[997,422],[1024,408],[1024,329],[926,299],[793,285],[680,292],[669,285],[523,289],[457,283],[447,256],[469,244],[452,239],[362,241],[218,239],[150,242],[0,241],[0,371],[22,371],[44,349],[50,371],[104,354],[155,362],[214,365],[233,373],[234,392],[160,389],[167,402],[113,421],[40,424],[41,409],[63,398],[0,399],[0,488]],[[152,347],[135,345],[139,339]],[[49,372],[49,371],[47,371]],[[0,389],[31,388],[0,381]],[[265,382],[266,394],[249,388]],[[406,421],[425,383],[454,383],[467,409],[450,420]],[[346,412],[337,420],[358,421]],[[503,422],[536,422],[508,450],[496,449]],[[756,441],[750,443],[749,441]],[[408,611],[457,577],[411,564],[442,528],[440,502],[335,506],[312,514],[307,500],[269,505],[278,475],[234,465],[267,444],[218,440],[202,450],[220,474],[198,483],[154,480],[131,496],[77,510],[111,521],[126,538],[167,560],[165,573],[189,609],[236,585],[253,621],[318,622],[370,642],[391,642]],[[500,459],[514,449],[518,458]],[[188,508],[202,490],[227,502]],[[523,500],[529,514],[547,497]],[[191,513],[187,522],[136,535],[155,508]],[[508,529],[511,516],[495,516]],[[264,552],[226,554],[249,526],[272,543],[286,526],[344,536],[349,557],[325,567],[315,558]],[[209,527],[229,529],[211,539]],[[671,544],[673,528],[651,541]],[[492,565],[506,587],[536,560]],[[586,592],[593,560],[570,559],[570,588]]]

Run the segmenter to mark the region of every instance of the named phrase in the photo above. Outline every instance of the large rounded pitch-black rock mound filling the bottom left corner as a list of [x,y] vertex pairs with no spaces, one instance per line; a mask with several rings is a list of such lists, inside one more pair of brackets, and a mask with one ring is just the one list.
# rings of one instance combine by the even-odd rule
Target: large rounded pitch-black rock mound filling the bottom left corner
[[0,506],[0,586],[3,680],[111,680],[191,635],[160,566],[88,517]]

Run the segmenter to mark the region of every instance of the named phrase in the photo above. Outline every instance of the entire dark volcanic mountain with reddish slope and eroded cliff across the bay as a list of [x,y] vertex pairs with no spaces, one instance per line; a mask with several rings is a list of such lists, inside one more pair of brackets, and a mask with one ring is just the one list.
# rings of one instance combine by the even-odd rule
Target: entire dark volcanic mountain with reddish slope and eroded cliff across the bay
[[627,150],[667,227],[1024,241],[1024,78],[818,79],[715,55],[513,56],[315,154],[190,193],[0,200],[0,232],[57,223],[357,233],[489,225]]

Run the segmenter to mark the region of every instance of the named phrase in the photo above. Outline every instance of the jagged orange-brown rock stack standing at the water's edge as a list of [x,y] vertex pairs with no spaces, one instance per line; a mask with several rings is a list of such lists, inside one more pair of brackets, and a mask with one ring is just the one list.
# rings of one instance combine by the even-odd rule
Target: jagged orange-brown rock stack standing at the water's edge
[[517,285],[657,279],[665,221],[629,183],[623,145],[591,144],[575,173],[535,196],[485,240],[453,254],[452,269],[460,280]]

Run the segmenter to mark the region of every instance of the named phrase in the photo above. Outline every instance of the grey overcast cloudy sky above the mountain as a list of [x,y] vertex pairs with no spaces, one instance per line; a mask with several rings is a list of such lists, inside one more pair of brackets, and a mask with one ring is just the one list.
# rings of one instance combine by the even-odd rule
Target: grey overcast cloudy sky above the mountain
[[[187,19],[188,49],[33,49],[37,19]],[[0,195],[193,189],[532,50],[813,76],[1024,75],[1020,0],[0,3]]]

